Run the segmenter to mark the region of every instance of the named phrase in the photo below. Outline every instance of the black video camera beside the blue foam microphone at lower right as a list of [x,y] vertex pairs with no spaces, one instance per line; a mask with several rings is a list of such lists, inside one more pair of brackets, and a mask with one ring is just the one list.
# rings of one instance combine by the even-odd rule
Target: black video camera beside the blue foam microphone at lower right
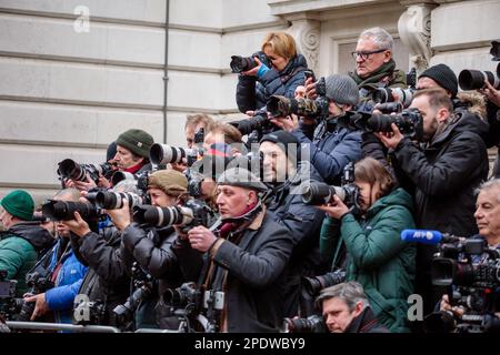
[[489,248],[483,239],[451,236],[440,243],[431,278],[433,285],[447,287],[450,304],[464,307],[464,313],[461,318],[449,312],[433,313],[426,318],[428,329],[498,332],[500,320],[493,314],[500,310],[500,253]]

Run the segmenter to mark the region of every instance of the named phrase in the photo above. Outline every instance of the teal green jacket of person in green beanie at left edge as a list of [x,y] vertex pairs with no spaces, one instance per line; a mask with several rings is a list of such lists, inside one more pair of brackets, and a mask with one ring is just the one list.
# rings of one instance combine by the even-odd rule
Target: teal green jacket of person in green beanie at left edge
[[34,266],[39,253],[54,242],[50,233],[38,224],[19,223],[0,233],[0,270],[8,280],[17,280],[17,296],[28,291],[26,274]]

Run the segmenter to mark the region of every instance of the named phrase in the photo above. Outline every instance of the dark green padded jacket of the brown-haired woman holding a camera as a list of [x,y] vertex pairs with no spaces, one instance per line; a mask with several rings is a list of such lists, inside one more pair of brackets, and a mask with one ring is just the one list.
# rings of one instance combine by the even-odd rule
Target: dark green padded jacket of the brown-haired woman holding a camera
[[373,313],[394,333],[408,332],[407,301],[413,293],[416,248],[400,236],[402,230],[414,227],[411,211],[411,196],[397,189],[376,201],[363,217],[346,214],[341,237],[332,219],[326,219],[321,230],[323,256],[338,267],[340,251],[346,248],[347,280],[363,285]]

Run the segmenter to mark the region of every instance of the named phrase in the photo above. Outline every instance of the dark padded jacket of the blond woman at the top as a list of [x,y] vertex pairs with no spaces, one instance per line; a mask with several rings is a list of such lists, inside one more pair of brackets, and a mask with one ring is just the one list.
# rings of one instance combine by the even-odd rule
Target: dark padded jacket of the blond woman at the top
[[299,54],[280,72],[270,69],[259,79],[240,74],[236,93],[238,109],[242,113],[261,109],[266,106],[271,95],[294,98],[297,87],[306,81],[303,71],[307,68],[306,58]]

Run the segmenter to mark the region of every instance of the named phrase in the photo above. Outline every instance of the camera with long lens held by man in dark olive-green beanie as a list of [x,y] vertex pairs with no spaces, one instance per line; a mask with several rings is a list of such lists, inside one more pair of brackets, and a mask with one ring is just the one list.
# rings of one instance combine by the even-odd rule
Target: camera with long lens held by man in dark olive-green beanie
[[64,159],[58,163],[58,174],[60,179],[70,179],[73,181],[84,181],[87,182],[87,174],[96,183],[99,182],[99,175],[107,179],[111,176],[114,172],[113,165],[110,163],[103,164],[78,164],[71,159]]

